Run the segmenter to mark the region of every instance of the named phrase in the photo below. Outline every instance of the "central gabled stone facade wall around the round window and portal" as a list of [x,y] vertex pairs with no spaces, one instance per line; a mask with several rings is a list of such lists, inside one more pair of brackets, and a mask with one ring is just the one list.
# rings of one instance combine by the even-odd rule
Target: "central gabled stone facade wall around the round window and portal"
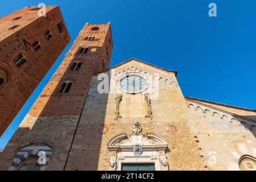
[[[152,119],[147,117],[147,102],[144,96],[149,88],[137,94],[118,92],[118,78],[134,72],[145,77],[154,77],[159,81],[159,87],[153,87],[149,93]],[[161,169],[162,155],[167,158],[170,170],[207,169],[194,134],[189,129],[191,114],[188,113],[185,98],[177,84],[176,72],[164,71],[142,61],[130,59],[105,73],[110,77],[110,92],[98,93],[97,87],[100,81],[97,80],[97,75],[92,78],[92,86],[69,155],[67,170],[109,170],[110,159],[113,156],[113,152],[107,147],[109,140],[117,134],[130,134],[130,126],[136,119],[141,123],[142,134],[154,133],[168,143],[163,151],[165,154],[143,152],[146,155],[142,155],[143,158],[149,159],[146,162],[151,162],[150,158],[152,158],[152,161],[158,161],[156,169]],[[117,94],[122,94],[122,101],[119,109],[120,117],[115,120]],[[118,160],[125,158],[117,155]]]

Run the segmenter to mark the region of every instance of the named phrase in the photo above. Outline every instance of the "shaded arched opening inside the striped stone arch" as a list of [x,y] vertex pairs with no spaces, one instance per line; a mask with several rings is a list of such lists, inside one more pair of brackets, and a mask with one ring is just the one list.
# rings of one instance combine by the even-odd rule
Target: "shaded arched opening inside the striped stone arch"
[[17,171],[39,171],[40,165],[38,164],[39,157],[34,155],[26,158],[18,166]]

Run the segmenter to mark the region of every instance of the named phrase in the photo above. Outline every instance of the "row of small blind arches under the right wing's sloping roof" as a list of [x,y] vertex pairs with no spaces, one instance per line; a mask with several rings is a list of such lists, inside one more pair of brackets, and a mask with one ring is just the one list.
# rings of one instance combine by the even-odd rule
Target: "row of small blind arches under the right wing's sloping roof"
[[228,111],[217,109],[216,107],[208,106],[200,102],[190,100],[188,98],[186,98],[185,100],[187,102],[187,107],[193,107],[196,111],[201,110],[203,113],[209,113],[212,117],[218,115],[218,117],[220,117],[221,119],[226,118],[229,120],[229,122],[237,123],[237,125],[239,126],[245,126],[242,124],[246,123],[245,128],[247,128],[248,130],[253,130],[254,127],[256,127],[256,121],[254,121],[253,119],[241,117],[240,115],[229,113]]

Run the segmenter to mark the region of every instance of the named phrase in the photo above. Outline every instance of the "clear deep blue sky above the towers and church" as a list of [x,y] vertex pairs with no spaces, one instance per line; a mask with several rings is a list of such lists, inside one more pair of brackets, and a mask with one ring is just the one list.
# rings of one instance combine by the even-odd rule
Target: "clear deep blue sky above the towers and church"
[[0,16],[40,2],[60,6],[72,40],[0,138],[2,148],[86,22],[112,23],[110,67],[135,57],[179,71],[184,96],[256,109],[255,0],[1,0]]

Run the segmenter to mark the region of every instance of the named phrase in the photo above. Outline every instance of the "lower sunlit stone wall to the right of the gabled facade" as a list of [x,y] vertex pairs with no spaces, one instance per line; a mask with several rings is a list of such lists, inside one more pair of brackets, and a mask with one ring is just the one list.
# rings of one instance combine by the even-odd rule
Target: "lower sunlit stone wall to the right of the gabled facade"
[[[250,119],[252,112],[256,115],[255,110],[241,108],[238,113],[243,115],[238,115],[230,113],[232,108],[226,105],[189,97],[186,102],[190,112],[198,117],[189,121],[189,127],[199,140],[201,154],[209,169],[239,170],[243,155],[255,158],[256,121]],[[255,161],[253,165],[256,170]]]

